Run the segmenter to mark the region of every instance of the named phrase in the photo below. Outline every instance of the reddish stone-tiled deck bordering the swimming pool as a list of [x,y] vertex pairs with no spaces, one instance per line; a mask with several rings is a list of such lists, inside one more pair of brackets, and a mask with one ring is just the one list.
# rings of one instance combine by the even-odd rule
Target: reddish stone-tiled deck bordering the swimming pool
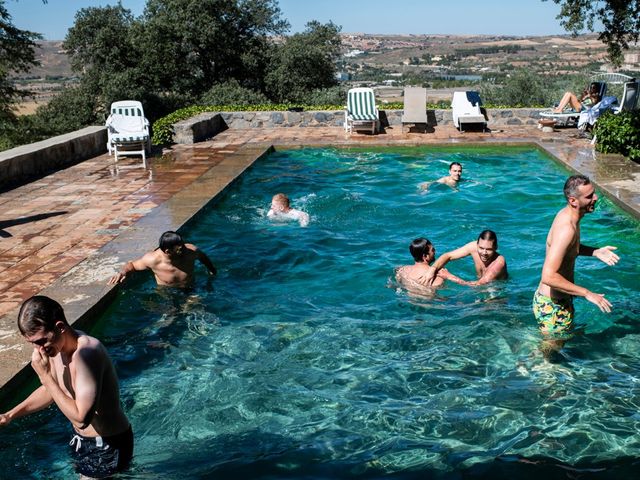
[[576,129],[544,133],[532,126],[489,133],[449,126],[402,133],[389,127],[379,135],[350,137],[337,127],[230,129],[158,153],[146,170],[138,157],[116,167],[105,153],[1,193],[0,403],[30,375],[25,366],[31,347],[15,326],[24,299],[49,295],[63,303],[70,322],[89,324],[115,293],[106,283],[126,260],[155,248],[160,233],[180,228],[272,147],[512,142],[542,147],[640,218],[640,165],[595,154]]

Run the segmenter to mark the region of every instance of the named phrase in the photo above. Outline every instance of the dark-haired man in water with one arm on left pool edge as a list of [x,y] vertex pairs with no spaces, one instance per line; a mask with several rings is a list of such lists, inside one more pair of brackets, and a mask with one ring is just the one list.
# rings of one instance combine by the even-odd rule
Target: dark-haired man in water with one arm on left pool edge
[[151,270],[158,285],[175,287],[188,286],[193,282],[195,261],[200,261],[210,275],[216,274],[216,267],[209,257],[191,243],[184,243],[180,234],[164,232],[160,237],[160,245],[141,258],[127,262],[122,271],[109,280],[109,285],[122,283],[131,272]]

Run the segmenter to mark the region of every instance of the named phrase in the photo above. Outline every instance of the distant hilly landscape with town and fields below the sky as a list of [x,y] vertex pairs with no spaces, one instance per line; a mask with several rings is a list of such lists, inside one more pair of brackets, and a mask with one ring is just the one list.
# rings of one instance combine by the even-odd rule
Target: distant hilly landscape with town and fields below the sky
[[[373,86],[421,83],[434,89],[481,80],[500,80],[526,68],[540,75],[612,70],[605,46],[596,35],[375,35],[343,33],[338,79]],[[40,42],[41,65],[15,81],[43,104],[76,79],[62,41]],[[626,72],[640,71],[640,46],[625,54]],[[31,106],[32,108],[34,105]],[[28,104],[24,113],[32,110]]]

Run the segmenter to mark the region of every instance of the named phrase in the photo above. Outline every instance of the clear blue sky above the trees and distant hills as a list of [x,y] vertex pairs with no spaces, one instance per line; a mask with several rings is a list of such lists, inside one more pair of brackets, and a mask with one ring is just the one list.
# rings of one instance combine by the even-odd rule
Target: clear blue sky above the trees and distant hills
[[[114,5],[116,0],[5,0],[18,28],[62,40],[84,7]],[[122,0],[140,15],[145,0]],[[345,33],[555,35],[566,33],[556,20],[552,0],[280,0],[291,32],[310,20],[329,20]]]

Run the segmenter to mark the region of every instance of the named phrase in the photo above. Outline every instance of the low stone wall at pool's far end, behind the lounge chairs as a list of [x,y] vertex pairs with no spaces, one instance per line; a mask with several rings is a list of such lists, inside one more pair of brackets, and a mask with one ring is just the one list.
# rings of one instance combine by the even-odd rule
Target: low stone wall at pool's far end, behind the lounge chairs
[[[509,125],[537,125],[539,108],[489,109],[488,127],[500,129]],[[451,110],[428,110],[430,127],[452,125]],[[383,127],[400,126],[402,110],[381,110],[380,122]],[[183,120],[173,125],[175,143],[192,144],[215,136],[227,129],[243,128],[322,128],[341,127],[344,123],[343,110],[304,112],[209,112]]]

